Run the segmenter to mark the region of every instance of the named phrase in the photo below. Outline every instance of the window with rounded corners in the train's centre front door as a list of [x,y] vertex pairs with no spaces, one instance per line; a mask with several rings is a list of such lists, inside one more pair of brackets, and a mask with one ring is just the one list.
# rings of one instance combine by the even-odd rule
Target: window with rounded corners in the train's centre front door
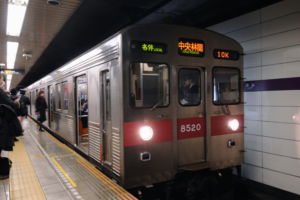
[[178,72],[179,103],[182,106],[195,106],[200,103],[200,72],[182,68]]

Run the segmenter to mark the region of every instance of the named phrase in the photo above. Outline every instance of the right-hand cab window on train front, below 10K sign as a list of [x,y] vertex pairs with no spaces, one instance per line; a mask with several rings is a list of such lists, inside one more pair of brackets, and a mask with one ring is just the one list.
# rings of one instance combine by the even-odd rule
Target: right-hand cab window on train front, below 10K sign
[[240,72],[238,68],[214,67],[213,104],[232,105],[240,102]]

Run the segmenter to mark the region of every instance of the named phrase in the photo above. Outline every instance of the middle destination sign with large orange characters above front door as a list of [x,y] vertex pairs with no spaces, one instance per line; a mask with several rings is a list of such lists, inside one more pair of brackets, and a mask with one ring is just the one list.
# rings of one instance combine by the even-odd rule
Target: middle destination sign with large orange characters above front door
[[203,58],[205,55],[204,41],[187,38],[178,39],[178,54]]

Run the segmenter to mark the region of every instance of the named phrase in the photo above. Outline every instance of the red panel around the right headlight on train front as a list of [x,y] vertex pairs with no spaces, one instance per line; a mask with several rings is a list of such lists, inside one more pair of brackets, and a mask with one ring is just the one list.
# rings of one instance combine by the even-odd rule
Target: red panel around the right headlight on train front
[[[236,119],[238,121],[239,126],[237,130],[233,131],[228,128],[228,121],[230,119]],[[225,115],[211,117],[211,136],[241,133],[244,131],[242,127],[243,115]]]

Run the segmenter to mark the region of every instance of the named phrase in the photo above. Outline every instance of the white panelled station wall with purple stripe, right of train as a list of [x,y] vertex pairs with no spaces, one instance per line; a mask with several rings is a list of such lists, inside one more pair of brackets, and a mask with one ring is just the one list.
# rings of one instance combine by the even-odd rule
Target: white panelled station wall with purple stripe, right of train
[[245,178],[300,194],[300,1],[207,28],[244,49]]

